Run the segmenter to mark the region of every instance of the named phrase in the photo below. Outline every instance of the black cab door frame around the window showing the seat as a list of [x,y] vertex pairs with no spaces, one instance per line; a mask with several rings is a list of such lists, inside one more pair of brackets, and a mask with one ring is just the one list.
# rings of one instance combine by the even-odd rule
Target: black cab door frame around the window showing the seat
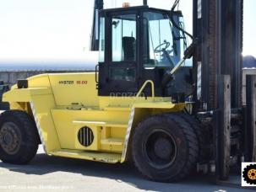
[[[136,48],[135,61],[112,61],[112,17],[117,15],[134,14],[136,17]],[[109,11],[101,13],[105,18],[105,60],[99,62],[99,96],[129,96],[138,92],[139,82],[139,46],[140,46],[140,11]],[[114,80],[110,77],[112,69],[132,69],[135,72],[134,81]]]

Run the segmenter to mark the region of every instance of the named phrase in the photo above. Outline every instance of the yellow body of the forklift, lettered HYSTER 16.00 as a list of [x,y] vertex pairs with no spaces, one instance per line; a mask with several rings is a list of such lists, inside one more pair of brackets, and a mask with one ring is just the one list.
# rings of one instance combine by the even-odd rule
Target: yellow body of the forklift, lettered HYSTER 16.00
[[[124,162],[131,130],[141,120],[185,107],[172,104],[171,98],[100,97],[95,72],[44,74],[28,81],[29,88],[14,86],[4,93],[3,101],[9,102],[11,109],[23,109],[34,116],[46,152],[56,156]],[[79,143],[82,127],[93,131],[89,147]]]

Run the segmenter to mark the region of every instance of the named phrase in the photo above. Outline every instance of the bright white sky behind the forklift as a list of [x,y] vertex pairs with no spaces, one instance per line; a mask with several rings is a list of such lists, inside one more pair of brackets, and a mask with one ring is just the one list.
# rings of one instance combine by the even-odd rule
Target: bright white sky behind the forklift
[[[105,0],[105,8],[143,0]],[[173,0],[148,0],[170,9]],[[94,0],[0,0],[0,60],[90,57]],[[256,56],[256,0],[244,0],[243,55]],[[192,31],[192,0],[181,0],[186,29]]]

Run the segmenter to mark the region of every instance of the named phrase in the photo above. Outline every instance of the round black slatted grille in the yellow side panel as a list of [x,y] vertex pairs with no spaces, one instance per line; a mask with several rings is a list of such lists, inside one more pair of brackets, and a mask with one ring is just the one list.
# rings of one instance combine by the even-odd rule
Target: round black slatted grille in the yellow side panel
[[94,140],[93,131],[87,126],[82,127],[78,133],[79,143],[84,147],[89,147]]

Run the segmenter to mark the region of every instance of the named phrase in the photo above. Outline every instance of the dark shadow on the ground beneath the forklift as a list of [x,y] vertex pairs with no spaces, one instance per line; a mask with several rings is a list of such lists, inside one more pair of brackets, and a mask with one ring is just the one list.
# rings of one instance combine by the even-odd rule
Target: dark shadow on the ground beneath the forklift
[[[238,189],[218,186],[210,176],[193,175],[176,184],[162,184],[144,179],[130,163],[107,164],[84,161],[79,159],[51,157],[46,154],[37,154],[28,165],[13,165],[0,162],[0,167],[8,168],[13,172],[44,175],[46,173],[68,172],[79,173],[84,176],[115,179],[117,182],[130,184],[138,189],[155,191],[237,191]],[[244,189],[243,189],[244,191]]]

